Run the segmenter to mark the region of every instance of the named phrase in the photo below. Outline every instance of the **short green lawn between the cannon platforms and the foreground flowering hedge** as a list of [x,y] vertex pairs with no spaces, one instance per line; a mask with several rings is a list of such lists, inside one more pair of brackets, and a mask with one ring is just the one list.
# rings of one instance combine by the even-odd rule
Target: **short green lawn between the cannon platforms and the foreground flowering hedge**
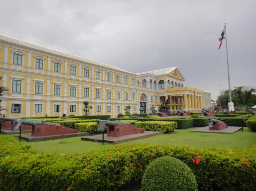
[[[217,134],[217,133],[200,133],[200,132],[189,132],[192,129],[176,129],[173,133],[157,135],[145,139],[129,141],[126,143],[151,143],[151,144],[175,144],[175,145],[189,145],[189,147],[202,148],[202,147],[213,147],[213,148],[234,148],[234,147],[246,147],[248,145],[256,144],[256,132],[251,132],[248,128],[244,128],[244,132],[238,131],[232,134]],[[5,135],[10,136],[19,141],[16,135]],[[61,139],[51,141],[39,141],[39,142],[27,142],[21,140],[21,143],[32,145],[32,149],[37,150],[39,154],[42,152],[47,153],[83,153],[91,151],[104,146],[113,144],[92,142],[92,141],[81,141],[80,137],[65,138],[63,142]]]

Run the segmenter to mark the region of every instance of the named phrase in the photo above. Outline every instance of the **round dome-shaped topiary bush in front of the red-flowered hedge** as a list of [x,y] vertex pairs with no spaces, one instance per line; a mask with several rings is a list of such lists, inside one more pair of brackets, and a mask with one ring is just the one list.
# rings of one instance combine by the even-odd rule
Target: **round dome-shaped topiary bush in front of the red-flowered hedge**
[[174,157],[160,157],[145,170],[141,191],[197,191],[194,173],[182,161]]

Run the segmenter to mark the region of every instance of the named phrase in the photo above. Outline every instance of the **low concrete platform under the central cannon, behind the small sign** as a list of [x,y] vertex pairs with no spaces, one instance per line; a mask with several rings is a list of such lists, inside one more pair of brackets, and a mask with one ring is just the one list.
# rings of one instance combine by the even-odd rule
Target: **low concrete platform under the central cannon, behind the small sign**
[[[164,134],[164,133],[162,131],[145,131],[144,133],[136,133],[136,134],[119,136],[119,137],[111,137],[111,136],[107,136],[107,134],[104,134],[104,142],[117,144],[117,143],[122,143],[126,141],[143,139],[143,138],[147,138],[147,137],[151,137],[159,134]],[[102,142],[102,134],[92,135],[88,137],[81,137],[81,140]]]

